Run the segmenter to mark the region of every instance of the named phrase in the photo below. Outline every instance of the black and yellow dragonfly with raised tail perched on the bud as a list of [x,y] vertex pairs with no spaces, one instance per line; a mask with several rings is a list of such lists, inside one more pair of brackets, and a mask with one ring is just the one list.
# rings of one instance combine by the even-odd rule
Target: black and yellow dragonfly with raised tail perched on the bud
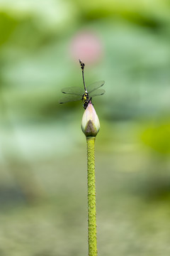
[[86,110],[86,107],[89,105],[89,102],[92,101],[92,97],[100,96],[105,93],[105,90],[100,89],[105,81],[98,81],[93,82],[91,85],[86,87],[85,80],[84,80],[84,66],[85,64],[79,60],[81,70],[82,70],[82,77],[83,77],[83,84],[82,87],[65,87],[62,89],[62,93],[64,93],[64,97],[60,99],[60,104],[66,102],[74,102],[78,100],[82,100],[83,107]]

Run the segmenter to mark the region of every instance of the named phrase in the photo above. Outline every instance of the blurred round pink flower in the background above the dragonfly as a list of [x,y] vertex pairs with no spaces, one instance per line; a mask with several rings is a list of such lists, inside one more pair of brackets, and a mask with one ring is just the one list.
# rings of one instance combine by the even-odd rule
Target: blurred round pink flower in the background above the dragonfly
[[72,58],[84,63],[96,63],[103,53],[101,40],[92,32],[84,31],[72,38],[70,45]]

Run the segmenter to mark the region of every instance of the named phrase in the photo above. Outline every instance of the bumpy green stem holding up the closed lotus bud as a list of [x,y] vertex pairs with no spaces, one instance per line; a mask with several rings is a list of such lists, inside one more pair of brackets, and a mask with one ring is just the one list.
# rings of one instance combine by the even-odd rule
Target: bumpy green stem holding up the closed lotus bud
[[97,256],[96,238],[96,184],[95,184],[95,137],[87,137],[87,186],[88,186],[88,242],[89,256]]

